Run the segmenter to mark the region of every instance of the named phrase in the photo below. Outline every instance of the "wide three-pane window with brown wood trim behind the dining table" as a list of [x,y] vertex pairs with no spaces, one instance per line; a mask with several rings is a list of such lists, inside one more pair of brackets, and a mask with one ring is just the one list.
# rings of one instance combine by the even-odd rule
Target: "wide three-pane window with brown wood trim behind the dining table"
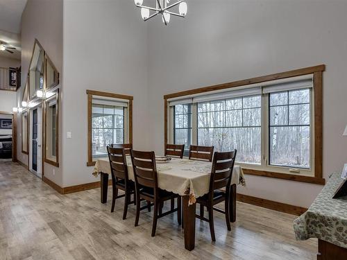
[[237,163],[245,173],[323,184],[318,159],[321,107],[314,106],[321,95],[323,69],[311,67],[164,96],[167,143],[187,145],[187,135],[176,138],[177,119],[171,119],[184,103],[191,112],[185,123],[191,129],[190,144],[214,146],[216,151],[237,149]]

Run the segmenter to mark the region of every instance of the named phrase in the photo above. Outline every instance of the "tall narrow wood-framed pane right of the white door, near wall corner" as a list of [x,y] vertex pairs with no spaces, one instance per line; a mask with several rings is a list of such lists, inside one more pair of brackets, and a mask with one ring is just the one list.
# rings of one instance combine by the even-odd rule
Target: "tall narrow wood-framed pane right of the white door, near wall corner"
[[44,162],[58,167],[58,91],[44,101]]

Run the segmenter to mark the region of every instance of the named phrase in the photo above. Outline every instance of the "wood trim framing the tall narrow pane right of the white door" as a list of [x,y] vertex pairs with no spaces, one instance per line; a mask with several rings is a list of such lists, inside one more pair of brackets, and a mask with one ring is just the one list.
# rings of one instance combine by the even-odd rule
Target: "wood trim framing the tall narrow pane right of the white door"
[[[47,164],[51,164],[53,166],[59,167],[59,89],[57,89],[56,94],[47,98],[43,103],[43,113],[44,113],[44,162]],[[47,103],[51,101],[51,99],[56,98],[56,162],[47,158],[46,154],[46,144],[47,144]]]

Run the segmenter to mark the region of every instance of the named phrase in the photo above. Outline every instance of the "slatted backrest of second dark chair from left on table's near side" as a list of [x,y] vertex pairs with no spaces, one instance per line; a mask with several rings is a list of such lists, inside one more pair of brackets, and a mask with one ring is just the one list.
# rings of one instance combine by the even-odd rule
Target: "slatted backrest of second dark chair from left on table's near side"
[[135,185],[158,189],[157,167],[155,165],[154,152],[141,152],[131,150],[131,162],[133,162]]

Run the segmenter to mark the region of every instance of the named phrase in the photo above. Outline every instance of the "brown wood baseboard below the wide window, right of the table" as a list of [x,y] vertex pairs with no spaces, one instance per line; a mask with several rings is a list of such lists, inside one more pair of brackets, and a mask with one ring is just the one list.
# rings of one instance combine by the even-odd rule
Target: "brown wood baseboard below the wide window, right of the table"
[[257,197],[248,196],[248,195],[239,194],[239,193],[237,193],[236,199],[240,202],[245,202],[251,205],[264,207],[266,209],[273,209],[276,211],[281,211],[281,212],[285,212],[285,213],[293,214],[297,216],[300,216],[305,211],[307,211],[307,209],[304,207],[293,206],[293,205],[289,205],[289,204],[285,204],[281,202],[276,202],[273,200],[265,200],[264,198],[257,198]]

